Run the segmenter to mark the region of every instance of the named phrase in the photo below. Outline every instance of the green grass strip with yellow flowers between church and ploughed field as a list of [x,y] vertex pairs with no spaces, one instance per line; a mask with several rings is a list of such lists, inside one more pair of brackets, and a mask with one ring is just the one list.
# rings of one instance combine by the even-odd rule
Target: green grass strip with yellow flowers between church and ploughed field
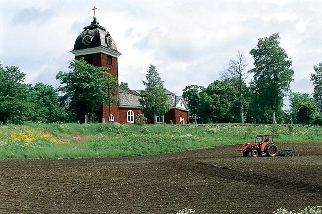
[[79,158],[158,154],[253,142],[273,134],[276,143],[322,142],[320,127],[236,124],[201,126],[26,124],[0,125],[0,158]]

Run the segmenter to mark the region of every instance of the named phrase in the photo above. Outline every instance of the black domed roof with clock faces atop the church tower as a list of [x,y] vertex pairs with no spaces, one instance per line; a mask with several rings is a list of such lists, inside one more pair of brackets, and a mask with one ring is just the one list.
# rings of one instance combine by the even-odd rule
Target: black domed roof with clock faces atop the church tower
[[[87,44],[86,42],[84,43],[84,37],[87,35],[90,37],[89,41],[92,40],[91,42],[89,42],[89,44]],[[96,47],[105,47],[117,52],[115,41],[110,36],[109,32],[100,25],[95,17],[91,24],[84,27],[84,31],[78,35],[74,44],[73,51]]]

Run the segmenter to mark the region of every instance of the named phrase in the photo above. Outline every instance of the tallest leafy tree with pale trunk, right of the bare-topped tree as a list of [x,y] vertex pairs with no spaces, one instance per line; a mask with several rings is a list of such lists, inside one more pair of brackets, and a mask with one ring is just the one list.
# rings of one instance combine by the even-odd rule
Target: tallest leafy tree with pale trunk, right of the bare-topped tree
[[[294,71],[292,60],[280,47],[279,34],[258,40],[257,47],[250,51],[254,58],[255,68],[249,72],[254,74],[253,93],[257,96],[256,104],[260,107],[261,120],[276,123],[275,112],[282,112],[283,98],[290,92]],[[266,111],[266,112],[265,112]],[[268,114],[272,119],[263,118]]]

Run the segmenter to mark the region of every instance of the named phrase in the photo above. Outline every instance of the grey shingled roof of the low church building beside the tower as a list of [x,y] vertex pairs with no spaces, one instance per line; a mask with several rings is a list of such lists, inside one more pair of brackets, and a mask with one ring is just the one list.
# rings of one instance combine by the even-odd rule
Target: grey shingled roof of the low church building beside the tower
[[[139,99],[141,99],[141,91],[143,90],[129,90],[123,87],[119,87],[118,94],[120,99],[120,106],[121,107],[141,107]],[[180,102],[183,101],[183,105],[188,109],[184,99],[181,96],[176,96],[169,90],[165,89],[168,99],[166,103],[169,105],[170,108],[174,108]]]

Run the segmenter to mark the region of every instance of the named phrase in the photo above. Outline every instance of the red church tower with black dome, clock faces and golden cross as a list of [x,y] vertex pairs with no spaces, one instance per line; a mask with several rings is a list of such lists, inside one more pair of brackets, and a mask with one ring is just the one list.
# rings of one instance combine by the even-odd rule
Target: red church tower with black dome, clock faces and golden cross
[[[84,27],[84,31],[78,35],[74,50],[71,53],[75,55],[76,59],[84,57],[87,63],[94,66],[108,67],[109,70],[107,72],[118,80],[117,57],[120,53],[117,51],[116,44],[109,32],[97,21],[95,16],[96,9],[94,6],[93,21],[89,26]],[[115,94],[118,96],[118,91]],[[109,122],[109,112],[111,114],[110,120],[112,122],[119,122],[118,106],[109,105],[108,101],[99,108],[96,115],[99,122],[102,122],[103,118],[106,122]]]

